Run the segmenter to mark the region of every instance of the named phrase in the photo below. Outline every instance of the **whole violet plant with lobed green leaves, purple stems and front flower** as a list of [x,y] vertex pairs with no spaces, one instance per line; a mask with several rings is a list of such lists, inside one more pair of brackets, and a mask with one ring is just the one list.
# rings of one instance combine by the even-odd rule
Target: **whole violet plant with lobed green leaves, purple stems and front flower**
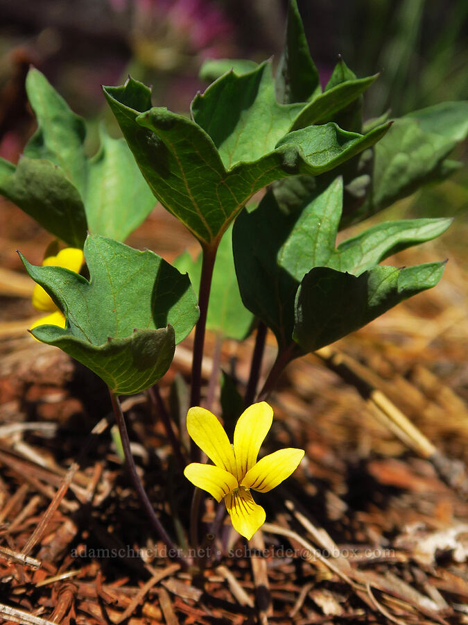
[[[467,102],[364,122],[363,93],[378,76],[356,78],[340,59],[322,89],[295,0],[289,3],[275,76],[271,61],[257,65],[247,60],[209,61],[201,75],[213,82],[193,99],[189,116],[153,107],[150,89],[133,78],[120,87],[105,87],[125,140],[103,131],[101,149],[89,159],[83,120],[32,69],[26,88],[37,133],[17,166],[0,160],[1,194],[67,246],[83,249],[89,272],[87,279],[57,266],[58,261],[35,267],[21,256],[64,319],[38,324],[31,333],[79,360],[109,387],[135,487],[168,544],[171,532],[151,508],[132,460],[119,396],[151,389],[161,380],[175,345],[195,327],[188,425],[214,465],[189,465],[186,475],[216,499],[229,499],[234,526],[250,537],[264,521],[248,493],[262,482],[250,472],[268,469],[270,477],[264,477],[273,487],[302,457],[300,450],[285,450],[291,466],[284,474],[275,473],[278,466],[269,456],[257,467],[271,424],[271,409],[260,402],[270,397],[294,358],[434,287],[443,260],[403,268],[379,263],[441,235],[451,219],[381,222],[336,247],[338,231],[448,176],[458,167],[451,152],[468,130]],[[259,203],[252,203],[262,190]],[[170,265],[153,251],[122,242],[144,221],[155,199],[198,240],[198,258],[184,253]],[[232,452],[223,433],[218,461],[208,451],[209,431],[205,428],[200,437],[191,423],[195,416],[198,422],[205,419],[213,436],[223,429],[209,410],[200,408],[202,401],[211,408],[212,399],[202,397],[207,328],[239,341],[254,328],[257,332],[242,400],[236,390],[239,406],[254,404],[248,412],[250,437],[243,444],[234,435]],[[275,335],[278,353],[259,390],[268,331]],[[256,428],[257,422],[269,425]],[[171,423],[166,426],[174,441]],[[175,447],[180,444],[175,440]],[[240,470],[236,458],[248,455],[249,445],[256,451]],[[196,444],[191,459],[200,459]],[[223,465],[226,459],[232,467]],[[193,527],[201,495],[196,492],[192,542],[198,540]],[[239,515],[236,497],[248,500],[250,516]]]

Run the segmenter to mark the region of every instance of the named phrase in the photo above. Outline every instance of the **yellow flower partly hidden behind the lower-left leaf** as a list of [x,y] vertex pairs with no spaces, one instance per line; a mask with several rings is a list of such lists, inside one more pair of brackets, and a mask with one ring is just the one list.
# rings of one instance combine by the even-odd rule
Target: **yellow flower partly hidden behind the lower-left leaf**
[[[77,249],[76,247],[66,247],[60,250],[56,256],[47,256],[44,258],[42,267],[64,267],[78,274],[81,265],[83,265],[83,259],[83,250]],[[37,328],[37,326],[44,325],[59,326],[60,328],[65,327],[66,320],[62,311],[55,306],[50,295],[38,284],[35,285],[33,291],[33,306],[37,310],[42,310],[50,314],[37,319],[37,321],[32,324],[31,330]]]

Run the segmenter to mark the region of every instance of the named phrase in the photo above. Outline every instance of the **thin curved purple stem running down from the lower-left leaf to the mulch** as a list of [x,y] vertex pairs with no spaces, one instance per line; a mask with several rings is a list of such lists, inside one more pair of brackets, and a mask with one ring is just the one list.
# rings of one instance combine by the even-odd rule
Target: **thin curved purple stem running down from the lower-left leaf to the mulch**
[[132,456],[132,451],[130,451],[130,439],[128,438],[127,426],[125,425],[125,417],[123,417],[122,407],[119,401],[119,397],[109,390],[110,392],[110,401],[112,401],[112,408],[114,408],[114,415],[117,426],[119,427],[120,437],[122,440],[123,453],[125,455],[125,464],[127,465],[128,473],[130,474],[130,479],[137,491],[141,506],[143,506],[148,518],[150,519],[151,525],[155,529],[155,531],[159,534],[159,537],[163,542],[166,543],[166,546],[169,549],[169,552],[174,554],[175,560],[179,560],[182,566],[187,567],[187,562],[185,562],[184,558],[179,555],[179,550],[175,547],[175,544],[172,542],[168,533],[162,526],[162,523],[156,516],[155,511],[153,510],[153,506],[151,506],[151,502],[148,499],[148,495],[146,494],[146,490],[144,489],[143,484],[139,478],[137,467],[135,465],[135,460]]

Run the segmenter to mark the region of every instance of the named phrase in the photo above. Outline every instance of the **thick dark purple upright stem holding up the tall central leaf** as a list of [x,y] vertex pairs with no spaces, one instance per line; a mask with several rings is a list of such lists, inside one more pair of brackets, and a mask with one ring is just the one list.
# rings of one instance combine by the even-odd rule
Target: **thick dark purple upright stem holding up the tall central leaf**
[[[198,319],[195,340],[193,341],[192,360],[192,385],[190,394],[190,406],[200,406],[200,392],[202,386],[202,360],[203,347],[205,345],[205,327],[207,325],[207,312],[209,291],[211,290],[211,278],[213,277],[214,261],[216,260],[217,247],[204,247],[202,257],[202,273],[200,276],[200,290],[198,294],[198,306],[200,319]],[[198,447],[191,442],[192,460],[198,458]]]

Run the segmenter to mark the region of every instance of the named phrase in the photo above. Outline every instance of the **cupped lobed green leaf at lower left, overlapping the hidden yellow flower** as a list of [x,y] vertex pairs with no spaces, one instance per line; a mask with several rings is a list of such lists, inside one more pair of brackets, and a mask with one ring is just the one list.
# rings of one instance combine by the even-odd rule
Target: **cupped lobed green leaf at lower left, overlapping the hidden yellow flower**
[[153,252],[98,235],[88,236],[84,251],[89,281],[62,267],[35,267],[21,256],[67,319],[66,328],[31,332],[92,369],[113,392],[144,390],[164,375],[175,343],[198,319],[189,278]]

